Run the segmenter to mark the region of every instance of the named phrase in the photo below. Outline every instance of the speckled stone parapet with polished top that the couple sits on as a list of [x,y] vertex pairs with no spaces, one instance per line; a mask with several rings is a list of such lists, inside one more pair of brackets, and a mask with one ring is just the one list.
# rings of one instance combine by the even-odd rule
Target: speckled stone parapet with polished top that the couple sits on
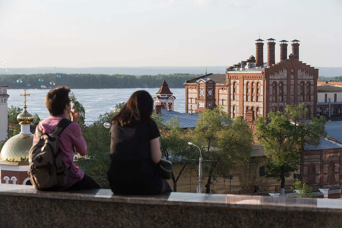
[[340,227],[341,202],[179,192],[119,196],[109,189],[40,192],[0,185],[2,227]]

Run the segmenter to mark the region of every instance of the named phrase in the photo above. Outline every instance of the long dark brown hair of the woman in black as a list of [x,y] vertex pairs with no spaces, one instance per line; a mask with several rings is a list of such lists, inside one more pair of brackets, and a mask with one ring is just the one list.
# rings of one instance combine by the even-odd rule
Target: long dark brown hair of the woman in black
[[127,103],[117,113],[111,123],[120,126],[133,126],[136,123],[148,123],[153,112],[153,99],[145,90],[132,94]]

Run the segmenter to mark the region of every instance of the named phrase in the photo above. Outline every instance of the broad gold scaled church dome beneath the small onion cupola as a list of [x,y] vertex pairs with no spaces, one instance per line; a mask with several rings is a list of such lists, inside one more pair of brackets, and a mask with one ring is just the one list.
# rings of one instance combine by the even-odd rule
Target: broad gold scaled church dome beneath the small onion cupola
[[34,135],[25,136],[27,137],[23,138],[21,134],[18,134],[9,138],[1,149],[0,160],[28,162],[28,152],[31,149]]

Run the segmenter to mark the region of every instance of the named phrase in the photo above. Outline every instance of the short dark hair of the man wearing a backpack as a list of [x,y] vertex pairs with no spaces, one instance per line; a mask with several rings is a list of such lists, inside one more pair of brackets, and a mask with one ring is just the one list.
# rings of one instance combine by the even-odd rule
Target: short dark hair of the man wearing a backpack
[[45,96],[45,105],[51,116],[58,116],[64,113],[65,106],[70,103],[69,87],[59,86],[52,89]]

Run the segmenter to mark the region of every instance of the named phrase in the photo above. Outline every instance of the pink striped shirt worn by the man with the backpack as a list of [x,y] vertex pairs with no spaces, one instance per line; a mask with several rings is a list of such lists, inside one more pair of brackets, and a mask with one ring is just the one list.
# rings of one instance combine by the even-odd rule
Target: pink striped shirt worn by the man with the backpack
[[[41,132],[50,134],[57,124],[67,117],[63,114],[60,116],[50,116],[45,120],[42,120],[38,124],[38,128]],[[36,134],[33,138],[33,144],[36,142]],[[76,122],[71,122],[60,134],[60,142],[59,147],[62,150],[61,157],[64,161],[64,164],[69,169],[69,180],[68,185],[65,189],[71,187],[79,180],[83,179],[84,173],[79,170],[76,165],[73,163],[74,161],[74,147],[76,151],[81,155],[86,155],[87,152],[87,143],[82,137],[81,127]]]

